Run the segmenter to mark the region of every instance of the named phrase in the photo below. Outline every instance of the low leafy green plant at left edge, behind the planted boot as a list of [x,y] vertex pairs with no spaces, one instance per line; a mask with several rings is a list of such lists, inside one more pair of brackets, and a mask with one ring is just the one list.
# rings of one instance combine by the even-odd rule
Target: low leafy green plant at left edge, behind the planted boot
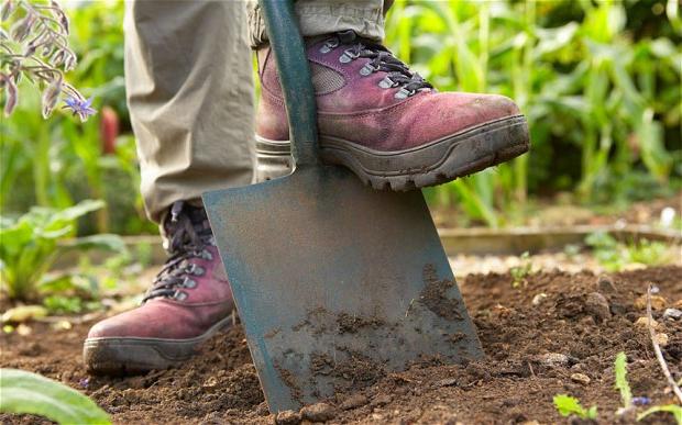
[[124,250],[123,242],[116,235],[73,237],[76,220],[102,206],[102,201],[87,200],[65,210],[33,208],[16,221],[1,217],[0,277],[9,297],[18,300],[33,297],[43,275],[65,250],[94,247]]

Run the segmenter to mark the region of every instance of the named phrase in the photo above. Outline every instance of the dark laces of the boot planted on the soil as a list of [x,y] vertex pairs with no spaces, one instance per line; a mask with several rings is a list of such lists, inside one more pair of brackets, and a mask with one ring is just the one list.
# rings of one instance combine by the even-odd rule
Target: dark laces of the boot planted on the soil
[[193,277],[206,273],[194,260],[212,259],[207,247],[215,245],[213,235],[202,208],[175,202],[164,228],[169,236],[167,249],[170,257],[144,294],[143,303],[155,298],[185,300],[187,293],[183,289],[195,288],[197,282]]

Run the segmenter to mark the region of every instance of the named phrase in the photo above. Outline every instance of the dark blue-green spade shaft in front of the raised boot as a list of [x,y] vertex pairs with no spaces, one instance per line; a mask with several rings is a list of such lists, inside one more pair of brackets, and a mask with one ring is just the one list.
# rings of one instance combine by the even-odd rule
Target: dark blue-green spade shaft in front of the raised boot
[[292,155],[297,168],[318,164],[315,89],[293,0],[258,0],[289,122]]

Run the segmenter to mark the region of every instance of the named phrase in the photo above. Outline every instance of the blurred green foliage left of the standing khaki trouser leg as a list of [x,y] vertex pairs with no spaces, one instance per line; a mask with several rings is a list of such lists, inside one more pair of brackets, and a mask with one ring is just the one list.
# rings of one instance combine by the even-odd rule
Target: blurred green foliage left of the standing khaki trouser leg
[[[41,98],[26,79],[22,100],[0,122],[0,208],[19,213],[30,206],[67,208],[80,199],[102,199],[107,206],[81,222],[88,233],[156,233],[144,213],[134,138],[105,131],[120,119],[130,128],[123,82],[123,2],[68,3],[69,43],[80,57],[74,85],[97,99],[102,113],[79,123],[56,115],[43,121]],[[116,125],[114,125],[116,126]],[[111,127],[111,125],[109,125]]]

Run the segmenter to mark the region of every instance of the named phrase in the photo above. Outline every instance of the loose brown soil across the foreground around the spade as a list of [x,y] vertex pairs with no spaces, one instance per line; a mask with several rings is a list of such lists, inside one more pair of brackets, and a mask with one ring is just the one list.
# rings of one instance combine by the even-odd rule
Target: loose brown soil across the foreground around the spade
[[[598,423],[635,423],[632,415],[615,414],[620,401],[613,362],[619,351],[628,357],[634,395],[648,396],[652,404],[674,401],[648,329],[637,321],[646,315],[641,295],[652,283],[664,299],[657,299],[653,312],[657,332],[668,336],[662,350],[679,379],[682,321],[662,314],[664,307],[682,309],[681,267],[605,276],[538,272],[528,276],[522,288],[513,288],[513,280],[508,273],[490,273],[460,282],[486,351],[484,360],[451,366],[430,359],[404,372],[372,373],[362,358],[343,370],[320,358],[321,369],[356,376],[362,385],[328,400],[329,409],[316,406],[301,414],[314,417],[309,412],[318,412],[316,417],[332,417],[331,423],[568,423],[552,405],[554,394],[566,393],[586,406],[598,405]],[[239,326],[216,336],[182,368],[106,378],[88,376],[81,365],[82,338],[92,323],[66,331],[33,323],[29,335],[2,335],[1,366],[61,380],[90,395],[119,424],[274,423]],[[349,332],[381,325],[344,324]],[[287,418],[297,423],[301,414],[289,412]],[[4,414],[0,422],[45,421]],[[671,415],[656,414],[649,423],[674,422]]]

